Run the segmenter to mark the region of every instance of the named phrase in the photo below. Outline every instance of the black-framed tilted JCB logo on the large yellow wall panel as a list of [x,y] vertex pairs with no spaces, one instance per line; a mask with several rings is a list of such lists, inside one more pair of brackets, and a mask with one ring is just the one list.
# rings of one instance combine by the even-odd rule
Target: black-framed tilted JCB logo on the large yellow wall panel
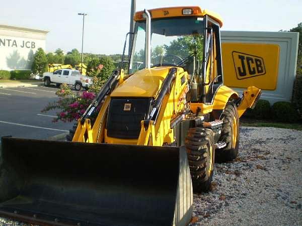
[[251,78],[266,73],[262,57],[233,51],[233,60],[238,79]]

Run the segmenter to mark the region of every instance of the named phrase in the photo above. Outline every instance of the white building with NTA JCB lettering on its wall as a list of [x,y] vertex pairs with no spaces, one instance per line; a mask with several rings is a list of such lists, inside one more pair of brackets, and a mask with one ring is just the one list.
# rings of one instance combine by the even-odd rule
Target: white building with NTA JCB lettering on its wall
[[0,70],[31,69],[36,50],[45,50],[47,33],[0,25]]

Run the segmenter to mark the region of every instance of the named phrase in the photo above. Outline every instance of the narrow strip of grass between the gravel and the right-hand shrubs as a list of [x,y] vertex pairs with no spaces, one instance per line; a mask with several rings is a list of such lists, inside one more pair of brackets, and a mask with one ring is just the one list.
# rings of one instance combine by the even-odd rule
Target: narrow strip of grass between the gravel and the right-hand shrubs
[[240,119],[240,125],[245,127],[275,127],[292,130],[302,130],[301,123],[277,123],[263,120]]

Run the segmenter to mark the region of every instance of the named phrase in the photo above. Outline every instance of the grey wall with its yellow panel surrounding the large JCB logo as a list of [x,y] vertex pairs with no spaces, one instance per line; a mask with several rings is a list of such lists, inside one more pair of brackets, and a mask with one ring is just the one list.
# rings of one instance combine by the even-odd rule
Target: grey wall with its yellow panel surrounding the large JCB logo
[[[231,64],[232,61],[234,69],[234,72],[232,72],[229,69],[231,66],[223,65],[223,70],[225,69],[225,83],[228,83],[229,86],[238,92],[242,92],[244,87],[248,85],[257,86],[258,84],[259,86],[260,84],[260,86],[262,86],[261,98],[267,99],[270,103],[291,100],[293,81],[296,74],[298,33],[221,31],[221,42],[222,55],[224,58],[222,62],[226,62],[227,64],[227,62],[230,61]],[[244,46],[251,47],[253,45],[255,46],[254,49],[250,48],[245,52],[242,50]],[[233,46],[233,48],[226,48],[230,46]],[[266,50],[265,48],[271,48],[271,50]],[[236,68],[234,68],[234,59],[232,59],[236,52],[244,52],[245,54],[264,59],[264,65],[266,65],[265,74],[261,73],[259,74],[260,76],[247,77],[247,79],[239,80],[238,75],[236,75]],[[277,59],[276,53],[274,52],[279,53]],[[275,62],[275,65],[268,67],[269,63],[273,63],[272,61]],[[274,70],[275,68],[276,71]],[[230,71],[231,74],[226,74],[230,73]]]

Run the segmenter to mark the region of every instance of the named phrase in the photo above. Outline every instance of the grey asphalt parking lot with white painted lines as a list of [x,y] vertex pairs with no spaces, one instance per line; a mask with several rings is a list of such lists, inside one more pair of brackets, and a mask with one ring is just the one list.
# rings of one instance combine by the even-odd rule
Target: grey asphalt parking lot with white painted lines
[[42,113],[58,99],[55,86],[0,88],[0,137],[48,139],[68,132],[73,123],[57,122],[57,110]]

